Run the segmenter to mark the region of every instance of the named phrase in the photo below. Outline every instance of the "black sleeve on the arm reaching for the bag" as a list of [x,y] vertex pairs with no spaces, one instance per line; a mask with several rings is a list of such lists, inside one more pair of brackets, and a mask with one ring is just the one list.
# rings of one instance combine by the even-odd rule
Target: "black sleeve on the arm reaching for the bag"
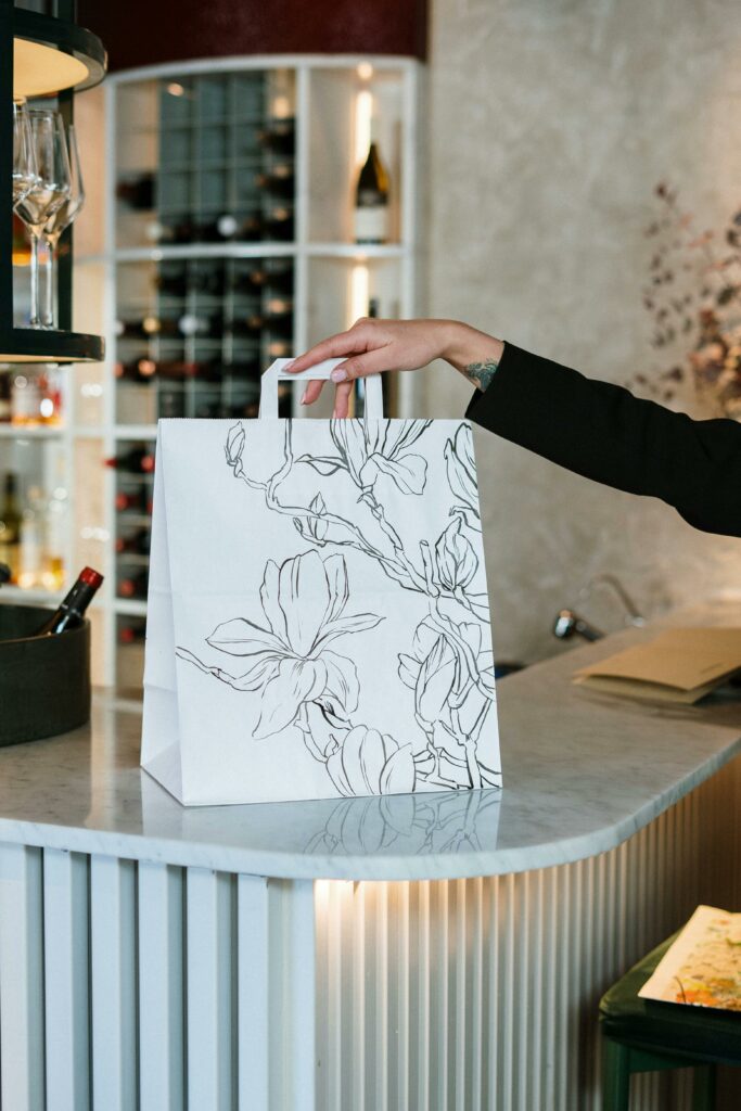
[[661,498],[695,529],[741,537],[733,420],[692,420],[512,343],[465,416],[577,474]]

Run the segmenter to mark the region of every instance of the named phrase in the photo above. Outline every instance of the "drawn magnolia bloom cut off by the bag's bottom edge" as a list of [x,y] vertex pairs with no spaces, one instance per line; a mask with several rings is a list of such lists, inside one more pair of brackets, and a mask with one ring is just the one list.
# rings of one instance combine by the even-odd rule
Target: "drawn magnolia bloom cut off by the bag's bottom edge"
[[388,733],[356,725],[327,761],[332,782],[344,795],[399,794],[414,790],[411,744]]

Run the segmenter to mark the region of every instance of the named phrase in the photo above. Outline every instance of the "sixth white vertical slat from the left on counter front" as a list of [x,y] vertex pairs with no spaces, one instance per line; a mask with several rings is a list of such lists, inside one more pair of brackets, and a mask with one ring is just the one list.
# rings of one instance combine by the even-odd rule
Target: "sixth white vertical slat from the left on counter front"
[[239,1111],[269,1111],[270,982],[268,880],[237,880],[237,1043]]

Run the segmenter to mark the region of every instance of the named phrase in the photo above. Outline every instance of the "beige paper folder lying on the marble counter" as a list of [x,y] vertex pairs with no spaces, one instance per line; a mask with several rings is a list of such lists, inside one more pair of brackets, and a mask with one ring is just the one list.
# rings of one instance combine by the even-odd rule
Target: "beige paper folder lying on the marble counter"
[[610,694],[697,702],[741,669],[741,629],[669,629],[574,673]]

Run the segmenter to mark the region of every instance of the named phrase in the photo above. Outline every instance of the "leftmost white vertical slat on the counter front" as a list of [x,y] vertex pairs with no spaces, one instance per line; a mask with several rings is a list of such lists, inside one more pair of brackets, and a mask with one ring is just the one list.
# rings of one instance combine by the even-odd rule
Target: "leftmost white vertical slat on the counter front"
[[0,1105],[43,1111],[41,850],[0,845]]

